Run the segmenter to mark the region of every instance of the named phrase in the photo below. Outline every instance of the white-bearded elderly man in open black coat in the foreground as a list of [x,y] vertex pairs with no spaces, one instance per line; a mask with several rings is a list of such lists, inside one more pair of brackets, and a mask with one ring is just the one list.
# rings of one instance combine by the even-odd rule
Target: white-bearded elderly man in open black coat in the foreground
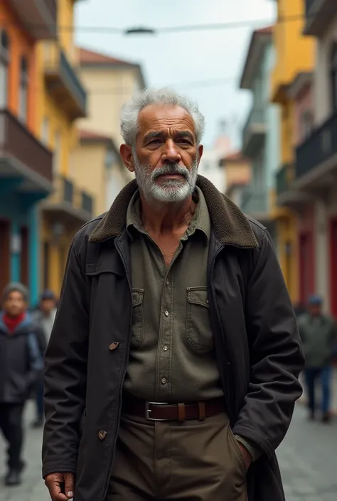
[[304,363],[266,229],[198,176],[204,119],[122,110],[136,180],[77,233],[46,355],[53,501],[282,501],[274,451]]

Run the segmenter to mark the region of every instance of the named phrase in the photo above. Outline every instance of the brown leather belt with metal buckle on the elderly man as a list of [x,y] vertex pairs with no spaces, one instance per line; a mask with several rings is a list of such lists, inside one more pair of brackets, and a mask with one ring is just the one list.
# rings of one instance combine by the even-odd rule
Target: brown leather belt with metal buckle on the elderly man
[[167,402],[145,402],[136,397],[124,397],[123,412],[132,416],[144,417],[147,421],[179,421],[199,419],[221,414],[225,411],[223,398],[191,402],[187,404],[169,404]]

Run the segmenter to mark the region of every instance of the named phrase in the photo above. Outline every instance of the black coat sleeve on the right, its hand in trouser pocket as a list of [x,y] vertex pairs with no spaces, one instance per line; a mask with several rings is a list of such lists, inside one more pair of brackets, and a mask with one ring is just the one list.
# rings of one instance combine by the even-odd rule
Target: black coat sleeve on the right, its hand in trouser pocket
[[247,283],[245,314],[250,384],[233,432],[272,456],[301,396],[298,378],[304,356],[294,309],[267,231]]

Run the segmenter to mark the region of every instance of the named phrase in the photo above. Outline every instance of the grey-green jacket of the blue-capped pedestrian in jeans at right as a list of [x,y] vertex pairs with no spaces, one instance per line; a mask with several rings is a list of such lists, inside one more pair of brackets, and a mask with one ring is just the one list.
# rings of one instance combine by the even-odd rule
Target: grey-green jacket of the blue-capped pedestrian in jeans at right
[[336,350],[336,320],[327,315],[313,317],[304,313],[299,317],[298,323],[306,367],[324,367],[331,364]]

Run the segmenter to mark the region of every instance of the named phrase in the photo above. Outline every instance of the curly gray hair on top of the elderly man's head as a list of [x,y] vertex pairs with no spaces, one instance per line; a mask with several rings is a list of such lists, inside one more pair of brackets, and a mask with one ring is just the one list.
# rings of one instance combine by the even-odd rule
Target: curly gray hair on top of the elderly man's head
[[188,97],[177,94],[169,88],[145,89],[134,95],[132,99],[124,104],[121,111],[121,134],[126,144],[134,146],[138,133],[138,117],[141,110],[149,104],[168,104],[169,106],[180,106],[186,109],[191,115],[196,128],[196,141],[200,144],[205,128],[205,118],[200,113],[196,102]]

